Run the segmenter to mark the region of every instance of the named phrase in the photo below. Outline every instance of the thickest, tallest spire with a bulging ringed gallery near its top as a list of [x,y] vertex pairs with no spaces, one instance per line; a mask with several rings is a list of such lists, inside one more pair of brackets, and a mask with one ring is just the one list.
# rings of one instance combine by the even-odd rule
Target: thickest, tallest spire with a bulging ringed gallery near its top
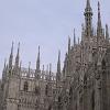
[[90,0],[87,0],[84,15],[85,15],[85,23],[86,23],[86,36],[91,36],[92,9],[90,7]]

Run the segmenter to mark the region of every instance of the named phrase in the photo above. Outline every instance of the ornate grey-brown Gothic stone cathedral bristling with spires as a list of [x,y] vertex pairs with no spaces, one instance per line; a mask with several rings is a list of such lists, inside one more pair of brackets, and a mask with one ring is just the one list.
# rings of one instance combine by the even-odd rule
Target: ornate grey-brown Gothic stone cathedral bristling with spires
[[41,69],[40,47],[36,68],[20,63],[20,44],[13,63],[13,43],[9,63],[4,63],[0,80],[0,110],[110,110],[110,40],[109,28],[102,28],[98,2],[97,28],[92,25],[92,8],[87,0],[81,24],[81,40],[68,51],[61,69]]

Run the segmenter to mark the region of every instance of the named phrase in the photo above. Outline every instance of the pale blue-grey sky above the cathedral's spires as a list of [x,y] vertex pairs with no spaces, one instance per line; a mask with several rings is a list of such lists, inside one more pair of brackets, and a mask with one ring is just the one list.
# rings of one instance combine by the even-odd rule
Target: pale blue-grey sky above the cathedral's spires
[[[94,26],[97,23],[97,2],[90,0],[94,10]],[[99,0],[105,28],[110,23],[110,0]],[[41,68],[52,63],[56,72],[58,50],[62,53],[62,67],[67,52],[68,35],[74,28],[80,37],[85,22],[86,0],[0,0],[0,77],[4,59],[10,55],[14,42],[14,57],[20,42],[20,61],[23,67],[35,68],[37,47],[41,46]],[[14,63],[14,62],[13,62]]]

